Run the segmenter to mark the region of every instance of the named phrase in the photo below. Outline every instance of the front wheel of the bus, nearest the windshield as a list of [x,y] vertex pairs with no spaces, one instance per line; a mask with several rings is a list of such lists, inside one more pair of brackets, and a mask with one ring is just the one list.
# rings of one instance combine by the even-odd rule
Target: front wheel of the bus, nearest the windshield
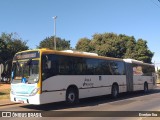
[[74,105],[77,104],[78,101],[78,91],[75,88],[69,88],[66,92],[66,103],[68,105]]

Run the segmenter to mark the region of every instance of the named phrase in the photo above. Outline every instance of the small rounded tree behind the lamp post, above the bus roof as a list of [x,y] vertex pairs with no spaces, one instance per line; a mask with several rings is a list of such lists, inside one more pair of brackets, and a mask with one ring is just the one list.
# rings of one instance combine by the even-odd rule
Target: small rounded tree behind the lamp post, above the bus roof
[[[70,41],[66,41],[65,39],[56,38],[56,47],[57,50],[66,50],[70,49]],[[49,48],[54,49],[54,37],[47,37],[42,40],[37,46],[37,48]]]

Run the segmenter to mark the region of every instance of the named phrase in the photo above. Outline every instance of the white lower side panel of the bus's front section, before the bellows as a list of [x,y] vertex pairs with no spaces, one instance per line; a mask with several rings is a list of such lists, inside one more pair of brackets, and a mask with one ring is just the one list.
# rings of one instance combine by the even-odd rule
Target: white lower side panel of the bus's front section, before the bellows
[[111,94],[113,83],[119,92],[126,92],[125,75],[57,75],[42,82],[42,101],[64,101],[70,85],[79,89],[79,98]]

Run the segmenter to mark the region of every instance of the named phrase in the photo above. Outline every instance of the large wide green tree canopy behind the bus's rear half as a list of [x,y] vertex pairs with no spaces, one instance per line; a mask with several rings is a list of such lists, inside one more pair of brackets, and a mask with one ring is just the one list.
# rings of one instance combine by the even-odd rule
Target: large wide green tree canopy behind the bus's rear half
[[146,63],[151,63],[154,55],[149,50],[146,40],[136,41],[133,36],[115,33],[96,33],[91,40],[81,38],[76,44],[76,50],[95,52],[101,56],[132,58]]

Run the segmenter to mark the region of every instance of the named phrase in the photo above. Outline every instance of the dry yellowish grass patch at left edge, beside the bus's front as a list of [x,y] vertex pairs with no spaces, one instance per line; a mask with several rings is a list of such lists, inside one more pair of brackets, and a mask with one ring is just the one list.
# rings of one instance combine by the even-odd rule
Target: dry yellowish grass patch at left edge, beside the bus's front
[[0,100],[10,98],[10,88],[0,89]]

